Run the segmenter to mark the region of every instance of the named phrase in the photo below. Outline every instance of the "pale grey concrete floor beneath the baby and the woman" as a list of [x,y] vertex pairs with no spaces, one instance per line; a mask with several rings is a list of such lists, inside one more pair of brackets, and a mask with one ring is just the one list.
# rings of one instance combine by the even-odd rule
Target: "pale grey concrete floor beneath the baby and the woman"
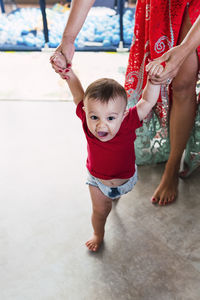
[[[0,299],[199,300],[200,173],[176,203],[149,199],[164,165],[139,167],[94,254],[86,143],[49,53],[0,53]],[[84,84],[124,79],[127,54],[77,53]],[[123,83],[123,82],[122,82]]]

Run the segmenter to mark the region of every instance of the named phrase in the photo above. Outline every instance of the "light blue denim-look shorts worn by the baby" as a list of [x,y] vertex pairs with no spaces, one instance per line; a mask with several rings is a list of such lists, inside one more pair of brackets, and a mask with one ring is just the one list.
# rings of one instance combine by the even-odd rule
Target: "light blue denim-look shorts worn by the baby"
[[98,187],[105,196],[114,200],[130,192],[133,189],[136,182],[137,182],[137,167],[135,166],[135,174],[127,182],[117,187],[112,188],[110,186],[103,184],[98,178],[92,176],[90,173],[88,175],[86,183]]

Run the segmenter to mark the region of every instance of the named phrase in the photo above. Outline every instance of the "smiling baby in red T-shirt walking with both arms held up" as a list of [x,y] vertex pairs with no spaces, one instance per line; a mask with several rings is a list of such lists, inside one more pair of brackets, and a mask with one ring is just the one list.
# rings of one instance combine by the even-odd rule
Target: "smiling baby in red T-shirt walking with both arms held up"
[[156,104],[160,86],[148,80],[140,101],[127,109],[126,91],[118,82],[102,78],[91,83],[84,92],[73,70],[66,68],[64,56],[55,54],[52,59],[69,85],[87,140],[93,236],[86,246],[97,251],[104,239],[112,200],[131,191],[137,182],[135,130],[142,126],[142,120]]

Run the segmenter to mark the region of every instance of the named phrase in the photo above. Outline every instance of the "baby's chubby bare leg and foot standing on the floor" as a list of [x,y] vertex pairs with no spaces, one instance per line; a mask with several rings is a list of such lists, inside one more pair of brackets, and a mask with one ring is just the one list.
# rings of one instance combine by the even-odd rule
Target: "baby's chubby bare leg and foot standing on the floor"
[[94,233],[93,237],[86,242],[86,246],[89,250],[96,252],[103,242],[105,223],[112,208],[112,200],[95,186],[89,185],[89,190],[92,199]]

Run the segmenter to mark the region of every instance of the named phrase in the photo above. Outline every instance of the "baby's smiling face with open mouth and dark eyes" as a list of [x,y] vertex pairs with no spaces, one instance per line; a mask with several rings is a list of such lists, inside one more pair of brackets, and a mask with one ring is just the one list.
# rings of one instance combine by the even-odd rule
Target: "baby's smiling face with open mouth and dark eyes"
[[128,114],[126,102],[121,97],[111,99],[108,103],[86,98],[84,110],[90,132],[102,142],[114,138]]

